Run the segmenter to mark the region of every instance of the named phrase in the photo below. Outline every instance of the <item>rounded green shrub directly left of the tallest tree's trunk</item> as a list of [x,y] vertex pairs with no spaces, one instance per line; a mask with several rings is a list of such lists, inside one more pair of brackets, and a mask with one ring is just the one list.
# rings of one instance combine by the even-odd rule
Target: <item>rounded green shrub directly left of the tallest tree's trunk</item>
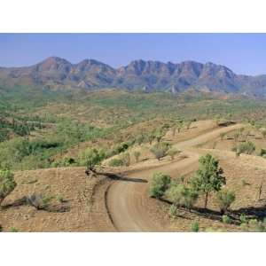
[[184,184],[172,184],[166,194],[175,206],[188,209],[191,209],[198,199],[198,193]]

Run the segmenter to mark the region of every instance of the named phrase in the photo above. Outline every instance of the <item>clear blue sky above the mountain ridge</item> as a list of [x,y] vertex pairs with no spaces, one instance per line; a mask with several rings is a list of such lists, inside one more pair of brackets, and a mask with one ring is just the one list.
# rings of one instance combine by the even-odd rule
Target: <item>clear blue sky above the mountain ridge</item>
[[237,74],[266,74],[266,34],[0,34],[0,66],[29,66],[50,56],[113,67],[133,59],[211,61]]

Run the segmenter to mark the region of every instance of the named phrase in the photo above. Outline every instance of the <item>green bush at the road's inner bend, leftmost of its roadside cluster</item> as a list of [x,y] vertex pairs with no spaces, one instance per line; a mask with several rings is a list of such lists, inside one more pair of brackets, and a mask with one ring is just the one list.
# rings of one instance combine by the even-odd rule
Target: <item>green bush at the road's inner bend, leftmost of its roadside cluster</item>
[[169,184],[171,183],[171,177],[163,173],[155,173],[150,185],[150,196],[160,199],[167,191]]

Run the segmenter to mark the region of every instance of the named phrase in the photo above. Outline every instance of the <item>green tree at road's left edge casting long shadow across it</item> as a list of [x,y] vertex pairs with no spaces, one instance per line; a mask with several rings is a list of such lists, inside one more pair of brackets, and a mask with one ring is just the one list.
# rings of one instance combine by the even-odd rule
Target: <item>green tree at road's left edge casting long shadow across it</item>
[[86,167],[86,174],[89,176],[90,172],[95,173],[95,167],[100,165],[102,160],[105,158],[105,153],[103,151],[98,151],[97,149],[87,149],[81,153],[80,161],[81,164]]

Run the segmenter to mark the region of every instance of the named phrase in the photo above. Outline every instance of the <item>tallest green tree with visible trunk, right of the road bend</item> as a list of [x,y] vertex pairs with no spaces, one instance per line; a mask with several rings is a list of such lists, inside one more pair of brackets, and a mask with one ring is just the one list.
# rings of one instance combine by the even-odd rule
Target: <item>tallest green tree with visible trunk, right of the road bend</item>
[[200,157],[200,168],[196,175],[192,178],[192,185],[198,192],[205,193],[205,204],[207,208],[207,200],[210,192],[219,192],[225,184],[223,169],[219,167],[219,161],[212,155]]

